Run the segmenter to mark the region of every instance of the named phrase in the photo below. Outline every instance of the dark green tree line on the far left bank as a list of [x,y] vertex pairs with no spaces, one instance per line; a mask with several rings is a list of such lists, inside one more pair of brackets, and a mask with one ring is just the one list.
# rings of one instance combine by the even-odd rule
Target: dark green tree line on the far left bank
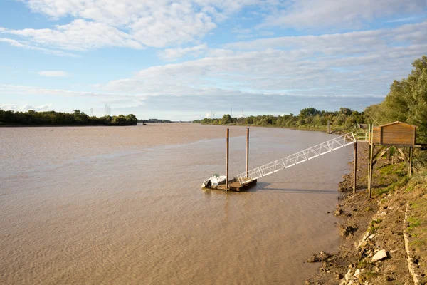
[[0,125],[137,125],[135,115],[117,115],[104,117],[89,116],[80,110],[73,113],[55,111],[15,112],[13,110],[0,109]]

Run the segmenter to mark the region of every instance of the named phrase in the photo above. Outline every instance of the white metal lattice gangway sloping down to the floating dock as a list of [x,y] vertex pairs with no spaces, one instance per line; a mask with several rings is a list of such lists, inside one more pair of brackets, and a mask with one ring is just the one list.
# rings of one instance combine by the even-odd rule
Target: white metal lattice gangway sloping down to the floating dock
[[296,152],[293,155],[288,155],[281,160],[275,160],[266,165],[249,170],[248,172],[241,173],[237,175],[236,178],[238,182],[243,185],[260,177],[264,177],[265,175],[270,175],[274,172],[278,172],[279,170],[292,167],[301,162],[338,150],[341,147],[352,145],[354,142],[357,142],[357,136],[354,133],[347,133],[337,138],[333,138],[332,140],[328,140],[327,142],[322,142],[314,147],[307,148],[306,150]]

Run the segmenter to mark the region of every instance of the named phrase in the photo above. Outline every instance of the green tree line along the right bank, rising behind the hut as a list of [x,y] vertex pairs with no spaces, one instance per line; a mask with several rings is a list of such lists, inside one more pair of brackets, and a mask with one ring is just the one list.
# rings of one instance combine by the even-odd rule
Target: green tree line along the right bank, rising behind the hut
[[275,125],[286,128],[325,128],[330,121],[334,129],[348,129],[362,123],[376,125],[399,120],[416,125],[420,142],[427,141],[427,56],[416,59],[413,70],[407,78],[391,83],[389,93],[383,102],[370,105],[362,112],[340,108],[330,112],[305,108],[298,115],[258,115],[246,118],[231,118],[223,115],[221,119],[204,118],[193,123],[212,125]]

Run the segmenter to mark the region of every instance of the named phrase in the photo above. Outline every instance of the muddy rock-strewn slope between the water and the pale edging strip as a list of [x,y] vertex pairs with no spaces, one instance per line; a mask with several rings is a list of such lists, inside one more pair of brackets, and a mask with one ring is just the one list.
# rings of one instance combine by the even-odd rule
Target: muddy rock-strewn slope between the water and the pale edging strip
[[306,284],[413,284],[404,242],[408,193],[396,188],[404,179],[403,162],[377,162],[374,195],[368,199],[368,152],[369,146],[359,143],[356,194],[352,193],[352,171],[339,183],[342,195],[333,213],[339,217],[339,252],[320,252],[307,259],[322,266]]

